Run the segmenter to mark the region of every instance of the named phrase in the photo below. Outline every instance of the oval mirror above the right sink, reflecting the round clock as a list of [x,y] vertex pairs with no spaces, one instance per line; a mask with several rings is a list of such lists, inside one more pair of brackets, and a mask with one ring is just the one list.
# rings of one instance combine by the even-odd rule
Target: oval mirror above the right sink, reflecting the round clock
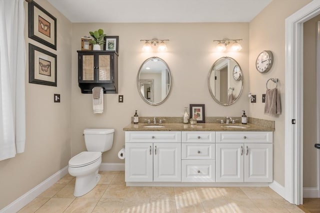
[[217,103],[234,103],[243,88],[243,74],[236,60],[227,56],[217,59],[209,70],[208,87]]

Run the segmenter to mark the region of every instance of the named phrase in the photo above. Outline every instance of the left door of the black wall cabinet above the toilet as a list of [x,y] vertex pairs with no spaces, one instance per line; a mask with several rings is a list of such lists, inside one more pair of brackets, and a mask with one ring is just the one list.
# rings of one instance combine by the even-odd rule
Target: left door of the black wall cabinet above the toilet
[[78,82],[95,82],[94,79],[94,54],[78,54]]

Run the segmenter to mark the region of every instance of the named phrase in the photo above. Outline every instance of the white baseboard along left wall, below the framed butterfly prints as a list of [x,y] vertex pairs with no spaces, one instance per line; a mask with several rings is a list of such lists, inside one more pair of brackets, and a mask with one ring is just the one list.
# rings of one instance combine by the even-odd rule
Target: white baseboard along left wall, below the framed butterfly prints
[[68,173],[68,166],[65,166],[64,168],[60,169],[59,171],[52,174],[50,177],[48,177],[46,180],[5,206],[0,210],[0,213],[12,213],[17,212],[20,210],[23,206],[28,204],[30,201],[32,201],[35,197],[37,197],[39,194],[41,194],[43,191],[48,189],[51,185],[53,185],[55,182],[57,182],[59,179],[61,179],[64,175]]

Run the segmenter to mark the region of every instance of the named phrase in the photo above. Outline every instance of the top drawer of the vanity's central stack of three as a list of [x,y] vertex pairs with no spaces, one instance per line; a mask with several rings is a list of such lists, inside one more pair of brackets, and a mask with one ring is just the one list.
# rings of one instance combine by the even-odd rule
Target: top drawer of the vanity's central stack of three
[[182,142],[214,142],[215,131],[182,131]]

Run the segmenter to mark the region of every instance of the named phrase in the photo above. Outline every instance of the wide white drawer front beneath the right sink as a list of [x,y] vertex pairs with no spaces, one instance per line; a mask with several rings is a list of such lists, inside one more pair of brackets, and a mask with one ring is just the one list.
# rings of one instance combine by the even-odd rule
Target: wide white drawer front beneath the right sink
[[217,143],[272,143],[272,131],[217,131]]

